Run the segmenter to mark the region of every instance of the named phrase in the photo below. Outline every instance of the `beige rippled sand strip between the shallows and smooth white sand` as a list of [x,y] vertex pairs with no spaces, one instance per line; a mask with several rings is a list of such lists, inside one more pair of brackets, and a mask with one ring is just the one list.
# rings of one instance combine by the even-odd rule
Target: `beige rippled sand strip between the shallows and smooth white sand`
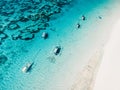
[[102,56],[103,56],[103,48],[97,50],[96,53],[91,57],[88,64],[79,73],[71,90],[93,89],[96,73],[100,66]]

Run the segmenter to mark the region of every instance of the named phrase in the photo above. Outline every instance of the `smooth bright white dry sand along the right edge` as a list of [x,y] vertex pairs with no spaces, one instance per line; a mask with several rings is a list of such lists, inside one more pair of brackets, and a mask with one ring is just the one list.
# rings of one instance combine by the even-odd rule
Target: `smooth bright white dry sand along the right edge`
[[120,90],[120,20],[116,22],[111,38],[104,48],[103,60],[94,90]]

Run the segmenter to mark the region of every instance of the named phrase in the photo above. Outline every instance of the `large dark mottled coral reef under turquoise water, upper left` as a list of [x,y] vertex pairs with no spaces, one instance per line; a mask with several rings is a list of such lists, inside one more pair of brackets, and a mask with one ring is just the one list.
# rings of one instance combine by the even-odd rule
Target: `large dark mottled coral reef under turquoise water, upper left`
[[[7,39],[31,40],[49,27],[56,14],[72,0],[2,0],[0,1],[0,43]],[[9,30],[9,33],[7,32]]]

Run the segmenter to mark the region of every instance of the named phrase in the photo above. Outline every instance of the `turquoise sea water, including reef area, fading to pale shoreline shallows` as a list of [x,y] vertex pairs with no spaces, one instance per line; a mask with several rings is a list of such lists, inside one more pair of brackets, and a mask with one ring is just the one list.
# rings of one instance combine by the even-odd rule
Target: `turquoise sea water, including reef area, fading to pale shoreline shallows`
[[[106,40],[103,38],[106,33],[97,27],[104,22],[107,16],[105,12],[111,8],[107,8],[107,5],[111,2],[113,1],[0,1],[0,90],[71,90],[74,77],[88,62],[92,52]],[[41,9],[42,7],[44,8]],[[43,17],[40,16],[42,10]],[[60,12],[53,13],[57,10]],[[81,19],[82,15],[86,17],[85,21]],[[76,27],[77,23],[80,24],[80,29]],[[26,31],[26,27],[29,28],[28,31],[40,30],[32,33]],[[45,40],[41,38],[43,32],[48,33]],[[96,33],[93,35],[90,32]],[[21,36],[13,40],[13,35],[18,34]],[[25,40],[33,34],[34,38]],[[8,37],[4,39],[4,35]],[[61,46],[61,52],[56,56],[53,49],[57,45]],[[23,73],[22,68],[29,62],[34,62],[31,71]]]

